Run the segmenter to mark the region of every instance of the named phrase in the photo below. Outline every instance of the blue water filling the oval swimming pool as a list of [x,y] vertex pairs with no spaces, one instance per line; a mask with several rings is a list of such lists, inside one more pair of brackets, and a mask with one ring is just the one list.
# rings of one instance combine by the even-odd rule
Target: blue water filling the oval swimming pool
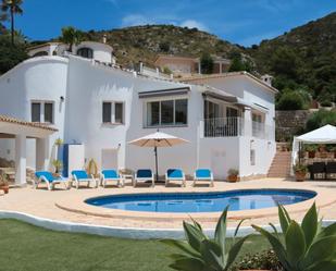
[[110,209],[147,212],[220,212],[252,210],[293,205],[316,196],[298,189],[245,189],[219,193],[157,193],[114,195],[87,199],[86,202]]

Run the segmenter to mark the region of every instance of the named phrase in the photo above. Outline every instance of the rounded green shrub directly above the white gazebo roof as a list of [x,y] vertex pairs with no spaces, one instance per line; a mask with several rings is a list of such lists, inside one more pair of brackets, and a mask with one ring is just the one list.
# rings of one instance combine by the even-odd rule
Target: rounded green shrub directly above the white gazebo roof
[[336,111],[320,109],[308,119],[306,123],[306,131],[310,132],[326,124],[336,125]]

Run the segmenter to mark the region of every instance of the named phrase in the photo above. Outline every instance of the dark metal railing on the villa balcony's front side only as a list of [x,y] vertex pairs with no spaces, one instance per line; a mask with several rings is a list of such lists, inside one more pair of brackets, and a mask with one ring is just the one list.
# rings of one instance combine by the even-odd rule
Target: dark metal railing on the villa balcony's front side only
[[241,118],[216,118],[204,120],[206,137],[231,137],[242,135]]

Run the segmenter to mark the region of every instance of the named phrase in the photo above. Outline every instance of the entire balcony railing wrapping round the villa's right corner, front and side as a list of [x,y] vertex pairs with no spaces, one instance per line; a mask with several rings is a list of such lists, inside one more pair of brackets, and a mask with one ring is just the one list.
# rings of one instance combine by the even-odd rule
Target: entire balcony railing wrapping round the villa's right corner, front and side
[[252,136],[261,139],[274,138],[274,127],[242,118],[215,118],[203,121],[204,137]]

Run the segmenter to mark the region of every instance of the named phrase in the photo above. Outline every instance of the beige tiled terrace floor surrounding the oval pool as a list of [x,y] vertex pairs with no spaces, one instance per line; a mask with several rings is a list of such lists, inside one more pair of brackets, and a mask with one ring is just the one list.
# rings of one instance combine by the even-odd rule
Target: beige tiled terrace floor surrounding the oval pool
[[[96,225],[111,225],[122,227],[146,227],[146,229],[179,229],[182,221],[187,215],[184,214],[158,214],[145,212],[127,212],[112,210],[86,205],[84,200],[89,197],[128,194],[128,193],[161,193],[161,192],[222,192],[240,188],[301,188],[318,192],[318,196],[312,200],[288,206],[293,217],[300,220],[302,213],[315,200],[320,207],[320,214],[324,219],[336,220],[336,182],[319,181],[297,183],[279,178],[264,178],[259,181],[249,181],[240,183],[216,182],[215,187],[199,186],[191,187],[187,183],[186,188],[164,187],[157,185],[154,188],[138,187],[133,188],[126,185],[124,188],[72,188],[64,190],[63,186],[59,189],[49,192],[41,186],[39,189],[33,189],[30,186],[25,188],[12,188],[10,194],[0,196],[0,211],[20,211],[40,218],[53,219],[59,221],[79,222]],[[214,227],[219,213],[198,213],[192,214],[200,220],[206,229]],[[229,225],[234,226],[240,218],[250,218],[245,225],[257,223],[265,225],[269,222],[277,223],[276,208],[267,208],[250,211],[229,212]]]

